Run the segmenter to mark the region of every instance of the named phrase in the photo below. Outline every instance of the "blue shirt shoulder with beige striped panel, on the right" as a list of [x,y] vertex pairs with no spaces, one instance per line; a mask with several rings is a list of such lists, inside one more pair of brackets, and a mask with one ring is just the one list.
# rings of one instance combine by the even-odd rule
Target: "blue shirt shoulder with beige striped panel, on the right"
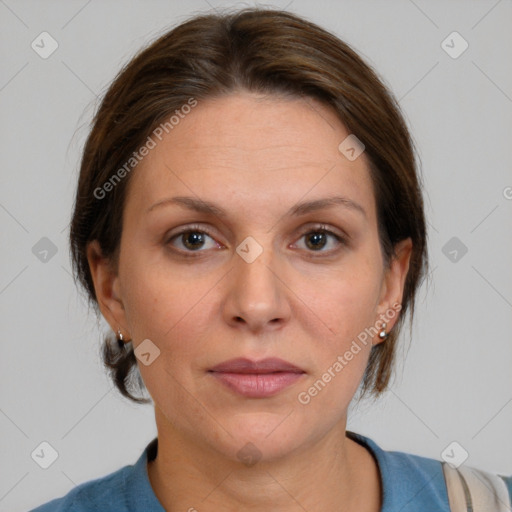
[[[374,441],[360,434],[347,432],[347,435],[363,444],[377,461],[383,491],[382,512],[393,510],[401,510],[401,512],[450,511],[445,475],[445,470],[450,470],[448,465],[440,460],[420,455],[383,450]],[[471,485],[471,490],[478,490],[479,482],[485,482],[487,485],[482,484],[481,489],[489,493],[488,489],[491,488],[490,484],[492,483],[501,497],[500,501],[505,501],[506,504],[510,503],[512,476],[492,475],[466,466],[459,470],[455,473],[446,471],[449,474],[457,475],[457,479],[452,481],[450,487],[454,487],[455,484],[459,485],[459,481],[462,480],[459,477],[460,472],[463,478],[466,475],[466,480],[468,480],[466,483]],[[494,508],[489,510],[494,510]]]

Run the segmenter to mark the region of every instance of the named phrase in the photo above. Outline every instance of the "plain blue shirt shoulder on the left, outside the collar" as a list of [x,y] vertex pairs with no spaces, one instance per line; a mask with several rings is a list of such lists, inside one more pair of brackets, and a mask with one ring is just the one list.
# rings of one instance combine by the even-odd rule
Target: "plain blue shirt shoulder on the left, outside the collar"
[[84,482],[61,498],[41,505],[31,512],[89,512],[92,510],[128,511],[126,479],[133,466],[124,466],[102,478]]

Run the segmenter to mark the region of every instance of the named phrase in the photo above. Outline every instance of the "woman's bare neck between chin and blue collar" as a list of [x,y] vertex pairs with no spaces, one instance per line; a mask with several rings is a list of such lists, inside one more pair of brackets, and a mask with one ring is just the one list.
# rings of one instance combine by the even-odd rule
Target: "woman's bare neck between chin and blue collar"
[[148,474],[169,512],[380,510],[376,463],[345,436],[345,423],[308,447],[252,466],[198,446],[173,429],[158,432],[158,453]]

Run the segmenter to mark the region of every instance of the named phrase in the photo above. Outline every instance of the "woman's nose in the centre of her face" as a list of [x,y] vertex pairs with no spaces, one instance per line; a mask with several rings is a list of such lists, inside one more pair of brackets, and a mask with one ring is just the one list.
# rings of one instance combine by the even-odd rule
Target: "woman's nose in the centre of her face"
[[226,322],[254,333],[282,328],[291,314],[289,288],[273,251],[263,249],[252,262],[238,253],[233,260],[224,302]]

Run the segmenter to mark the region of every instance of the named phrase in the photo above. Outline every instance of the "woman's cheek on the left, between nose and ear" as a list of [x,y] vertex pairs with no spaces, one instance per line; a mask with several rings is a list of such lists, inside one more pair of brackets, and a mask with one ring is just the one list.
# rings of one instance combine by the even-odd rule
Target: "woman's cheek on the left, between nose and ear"
[[138,363],[150,388],[152,381],[158,386],[157,375],[167,378],[165,371],[181,376],[180,380],[188,378],[186,369],[207,353],[219,279],[213,272],[198,275],[193,266],[173,269],[165,258],[147,262],[148,258],[134,255],[124,267],[120,265],[120,274],[134,348],[150,339],[160,350],[161,357],[151,366]]

